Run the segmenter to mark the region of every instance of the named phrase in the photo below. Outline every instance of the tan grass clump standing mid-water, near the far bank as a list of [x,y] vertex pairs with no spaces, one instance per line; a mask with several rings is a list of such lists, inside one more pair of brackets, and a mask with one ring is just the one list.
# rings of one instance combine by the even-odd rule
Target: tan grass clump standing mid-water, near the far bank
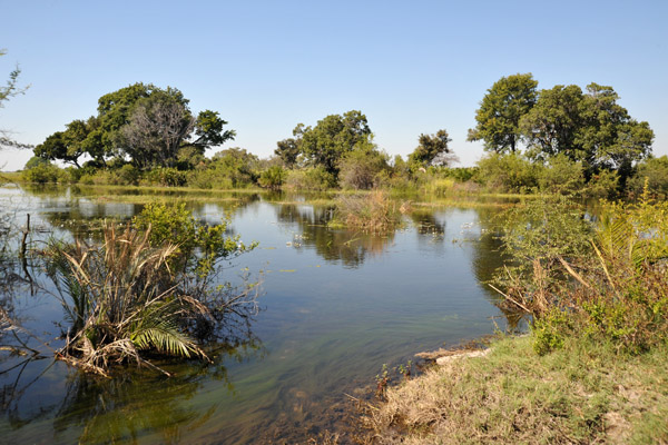
[[402,215],[410,205],[392,199],[383,190],[365,195],[342,195],[336,198],[333,226],[341,225],[372,233],[393,230],[402,225]]

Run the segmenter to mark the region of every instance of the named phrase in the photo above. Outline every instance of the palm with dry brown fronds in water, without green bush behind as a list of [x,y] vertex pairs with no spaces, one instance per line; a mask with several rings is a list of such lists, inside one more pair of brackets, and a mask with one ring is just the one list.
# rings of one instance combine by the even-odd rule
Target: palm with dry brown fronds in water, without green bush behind
[[[105,374],[109,360],[147,364],[139,352],[207,358],[187,332],[189,319],[210,318],[208,308],[181,293],[183,276],[169,268],[176,245],[151,247],[150,227],[114,225],[104,243],[55,243],[51,276],[71,319],[62,358]],[[75,358],[76,357],[76,358]]]

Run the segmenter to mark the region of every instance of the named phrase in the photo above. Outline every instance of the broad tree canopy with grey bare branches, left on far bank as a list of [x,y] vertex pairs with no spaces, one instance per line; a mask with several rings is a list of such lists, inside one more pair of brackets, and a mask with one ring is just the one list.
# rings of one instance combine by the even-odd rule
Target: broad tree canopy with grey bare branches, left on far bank
[[36,156],[79,165],[88,155],[102,165],[129,158],[139,168],[171,167],[179,150],[205,149],[234,139],[234,130],[218,112],[205,110],[195,118],[188,99],[176,88],[135,83],[98,100],[97,116],[75,120],[36,147]]

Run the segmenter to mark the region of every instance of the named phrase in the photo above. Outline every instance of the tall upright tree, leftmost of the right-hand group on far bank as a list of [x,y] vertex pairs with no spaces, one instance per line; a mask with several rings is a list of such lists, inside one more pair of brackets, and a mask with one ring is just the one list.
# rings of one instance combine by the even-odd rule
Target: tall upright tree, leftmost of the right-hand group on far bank
[[469,130],[466,140],[483,140],[488,151],[514,152],[521,138],[520,119],[536,103],[537,87],[530,72],[494,82],[480,102],[475,112],[478,126]]

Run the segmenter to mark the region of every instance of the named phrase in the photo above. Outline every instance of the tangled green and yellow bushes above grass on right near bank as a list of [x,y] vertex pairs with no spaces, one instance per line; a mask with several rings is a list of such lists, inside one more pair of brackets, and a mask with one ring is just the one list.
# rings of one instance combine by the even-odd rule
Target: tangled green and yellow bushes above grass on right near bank
[[640,353],[668,338],[668,205],[603,202],[599,220],[568,200],[513,210],[512,266],[492,286],[533,322],[536,350],[568,336]]

